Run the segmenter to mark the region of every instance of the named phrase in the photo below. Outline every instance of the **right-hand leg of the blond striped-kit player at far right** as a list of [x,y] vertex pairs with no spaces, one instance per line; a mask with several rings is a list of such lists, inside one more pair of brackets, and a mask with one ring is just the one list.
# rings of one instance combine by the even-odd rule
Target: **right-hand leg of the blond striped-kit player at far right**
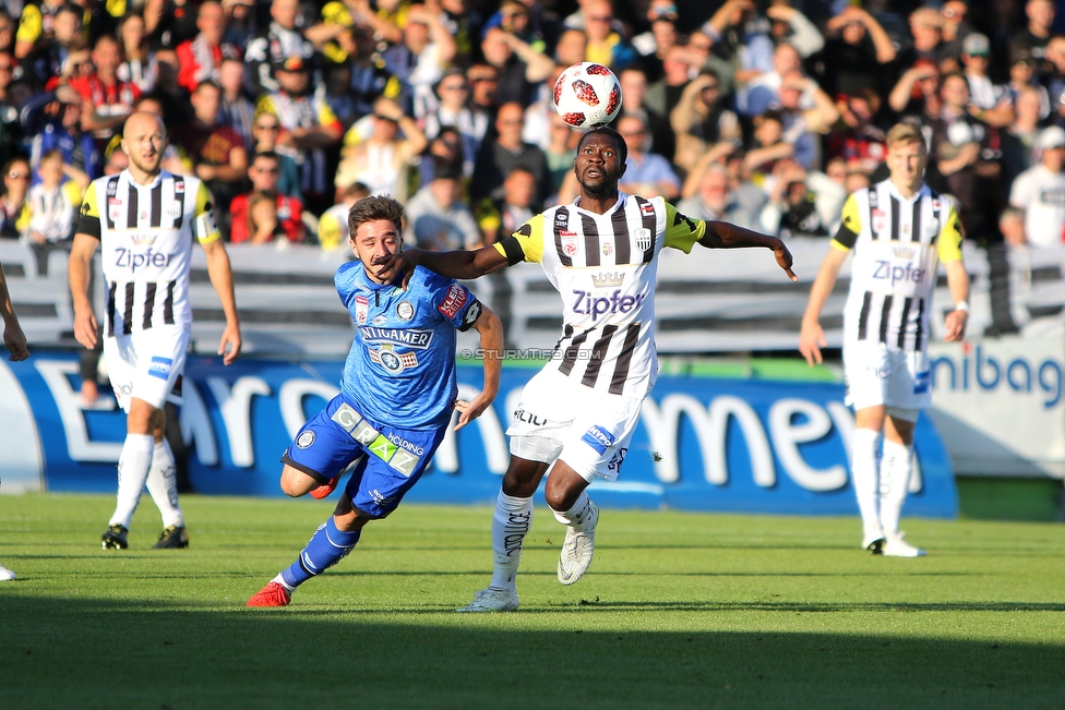
[[[889,557],[921,557],[925,553],[902,540],[899,517],[913,474],[913,430],[918,410],[888,409],[881,461],[881,525],[884,554]],[[912,418],[912,419],[911,419]]]

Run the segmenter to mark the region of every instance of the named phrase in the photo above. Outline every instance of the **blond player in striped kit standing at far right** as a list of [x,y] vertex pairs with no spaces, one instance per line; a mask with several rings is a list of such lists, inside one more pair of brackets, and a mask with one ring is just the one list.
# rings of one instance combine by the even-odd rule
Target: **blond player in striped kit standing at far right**
[[[950,201],[924,184],[928,151],[920,129],[895,125],[887,134],[890,177],[857,191],[810,290],[799,350],[813,366],[827,346],[818,323],[847,255],[854,252],[843,309],[843,371],[854,407],[851,474],[862,514],[862,546],[873,554],[924,554],[902,540],[898,522],[913,471],[913,426],[931,406],[926,345],[943,262],[955,309],[948,341],[965,336],[969,275],[961,261],[961,226]],[[877,442],[883,455],[877,467]]]

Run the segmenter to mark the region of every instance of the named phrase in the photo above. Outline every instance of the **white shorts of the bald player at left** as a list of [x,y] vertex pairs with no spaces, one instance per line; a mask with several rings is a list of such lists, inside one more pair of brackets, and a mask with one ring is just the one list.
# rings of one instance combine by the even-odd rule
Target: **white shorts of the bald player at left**
[[181,404],[181,373],[189,349],[190,330],[164,326],[131,335],[104,338],[104,363],[122,410],[129,413],[133,397],[156,409]]

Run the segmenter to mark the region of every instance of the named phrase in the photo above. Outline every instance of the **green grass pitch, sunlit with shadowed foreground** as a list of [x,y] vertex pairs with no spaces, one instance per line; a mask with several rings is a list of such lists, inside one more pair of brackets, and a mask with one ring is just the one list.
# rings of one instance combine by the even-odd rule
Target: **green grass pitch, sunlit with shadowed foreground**
[[[334,496],[335,497],[335,496]],[[489,508],[408,505],[279,610],[244,602],[330,502],[186,496],[189,550],[105,553],[111,496],[0,496],[0,707],[1063,708],[1065,526],[605,510],[562,587],[542,498],[511,614],[455,614],[489,578]]]

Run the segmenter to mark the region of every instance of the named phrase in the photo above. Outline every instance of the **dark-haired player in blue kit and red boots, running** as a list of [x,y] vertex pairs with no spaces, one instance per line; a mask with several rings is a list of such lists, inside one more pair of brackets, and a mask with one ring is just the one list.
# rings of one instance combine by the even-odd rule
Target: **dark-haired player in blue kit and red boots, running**
[[486,353],[503,349],[499,317],[454,279],[418,268],[406,290],[363,268],[403,245],[403,205],[366,197],[348,226],[359,262],[345,264],[334,282],[355,320],[340,394],[308,421],[282,457],[282,490],[325,497],[340,473],[355,470],[332,517],[299,557],[249,606],[285,606],[296,588],[345,557],[362,527],[398,507],[429,465],[459,411],[456,430],[481,414],[499,393],[500,361],[484,358],[484,386],[469,402],[456,400],[455,330],[475,328]]

